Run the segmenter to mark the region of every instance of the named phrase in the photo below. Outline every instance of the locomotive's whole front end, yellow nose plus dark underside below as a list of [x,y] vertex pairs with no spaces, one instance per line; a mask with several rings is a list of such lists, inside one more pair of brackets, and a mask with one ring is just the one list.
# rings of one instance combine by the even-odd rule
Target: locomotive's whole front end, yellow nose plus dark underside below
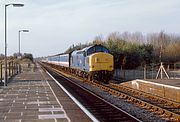
[[97,52],[89,56],[89,71],[93,79],[107,83],[114,69],[113,56],[109,53]]

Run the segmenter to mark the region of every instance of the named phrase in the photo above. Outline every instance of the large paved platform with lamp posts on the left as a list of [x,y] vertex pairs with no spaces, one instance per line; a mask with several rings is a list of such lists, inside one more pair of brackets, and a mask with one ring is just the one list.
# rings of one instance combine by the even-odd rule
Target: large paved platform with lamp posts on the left
[[22,72],[0,87],[0,121],[92,121],[40,66],[24,64]]

